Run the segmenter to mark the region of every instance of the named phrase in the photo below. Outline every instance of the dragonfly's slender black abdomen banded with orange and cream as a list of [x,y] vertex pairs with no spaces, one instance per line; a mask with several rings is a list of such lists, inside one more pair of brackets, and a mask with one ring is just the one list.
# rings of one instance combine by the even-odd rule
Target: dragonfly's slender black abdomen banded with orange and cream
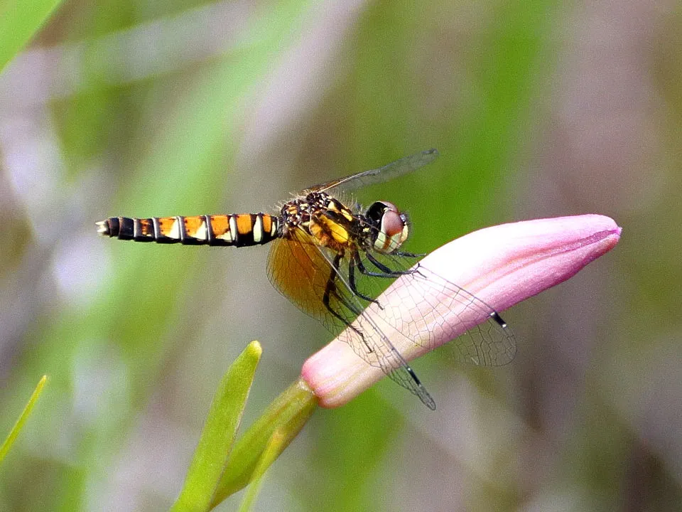
[[185,245],[261,245],[277,238],[279,220],[267,213],[192,217],[110,217],[97,223],[103,236]]

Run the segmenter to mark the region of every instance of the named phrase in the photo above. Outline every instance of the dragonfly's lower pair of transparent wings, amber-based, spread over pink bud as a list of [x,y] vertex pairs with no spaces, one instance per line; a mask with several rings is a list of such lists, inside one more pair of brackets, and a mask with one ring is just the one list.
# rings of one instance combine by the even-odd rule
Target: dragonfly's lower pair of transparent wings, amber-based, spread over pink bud
[[[408,366],[403,353],[426,352],[445,340],[454,340],[447,349],[458,361],[499,366],[514,358],[514,333],[499,314],[462,287],[416,264],[415,257],[364,254],[360,258],[366,271],[363,273],[357,265],[351,270],[350,257],[341,258],[335,265],[335,252],[318,245],[303,230],[295,230],[291,238],[276,240],[274,244],[268,259],[274,287],[332,333],[340,334],[364,361],[381,368],[432,409],[433,398]],[[382,273],[381,267],[396,273],[409,272],[403,278],[408,286],[375,304],[359,294],[379,297],[394,281],[369,275]],[[409,270],[410,267],[414,270]],[[336,279],[330,289],[332,273]],[[351,282],[358,293],[352,291]]]

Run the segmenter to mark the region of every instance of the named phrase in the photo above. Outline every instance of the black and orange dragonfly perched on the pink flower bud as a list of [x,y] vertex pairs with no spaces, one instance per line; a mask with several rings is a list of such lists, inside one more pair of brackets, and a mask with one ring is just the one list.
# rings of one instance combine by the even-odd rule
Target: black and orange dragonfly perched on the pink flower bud
[[[396,336],[406,338],[401,342],[435,347],[440,344],[436,338],[443,336],[437,331],[445,325],[444,311],[459,311],[456,315],[467,331],[450,343],[456,358],[501,366],[514,358],[514,334],[491,306],[420,265],[423,254],[403,250],[411,231],[406,213],[388,201],[375,201],[365,209],[352,193],[416,171],[437,156],[437,150],[428,149],[306,188],[276,214],[111,217],[98,222],[97,231],[136,242],[234,247],[269,243],[267,274],[274,287],[332,333],[343,331],[342,338],[360,358],[435,410],[435,401],[396,349]],[[408,297],[396,309],[377,297],[398,277],[412,282]],[[417,305],[434,297],[438,304],[429,318],[414,318]],[[386,325],[394,339],[384,334],[389,329],[381,329]]]

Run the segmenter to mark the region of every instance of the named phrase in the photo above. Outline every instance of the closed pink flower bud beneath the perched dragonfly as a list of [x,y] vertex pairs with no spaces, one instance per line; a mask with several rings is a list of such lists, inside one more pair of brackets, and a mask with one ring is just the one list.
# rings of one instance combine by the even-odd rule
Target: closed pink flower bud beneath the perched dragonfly
[[[614,220],[603,215],[527,220],[485,228],[453,240],[426,256],[421,265],[426,272],[458,284],[502,311],[573,276],[611,250],[620,232]],[[384,311],[375,304],[366,310],[406,361],[489,319],[485,311],[467,309],[462,321],[465,306],[434,314],[433,301],[404,301],[404,297],[411,297],[408,287],[414,283],[409,275],[400,277],[378,301],[390,305],[384,311],[397,309],[406,324],[436,319],[435,329],[426,326],[431,333],[428,344],[411,343],[406,336],[396,334],[394,325],[399,322],[382,321]],[[400,309],[402,304],[406,305]],[[343,405],[385,376],[380,368],[357,356],[343,338],[342,333],[303,364],[301,376],[323,407]]]

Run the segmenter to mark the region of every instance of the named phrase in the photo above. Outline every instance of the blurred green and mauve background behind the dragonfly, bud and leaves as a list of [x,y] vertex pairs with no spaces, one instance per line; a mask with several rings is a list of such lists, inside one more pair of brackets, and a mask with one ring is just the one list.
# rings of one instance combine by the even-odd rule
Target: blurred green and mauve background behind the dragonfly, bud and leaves
[[248,424],[331,338],[266,247],[95,221],[269,212],[430,147],[359,197],[412,250],[579,213],[622,242],[504,314],[509,366],[416,361],[435,412],[388,380],[318,410],[256,510],[682,510],[681,34],[674,1],[66,1],[0,75],[0,437],[50,376],[0,511],[168,508],[244,346]]

